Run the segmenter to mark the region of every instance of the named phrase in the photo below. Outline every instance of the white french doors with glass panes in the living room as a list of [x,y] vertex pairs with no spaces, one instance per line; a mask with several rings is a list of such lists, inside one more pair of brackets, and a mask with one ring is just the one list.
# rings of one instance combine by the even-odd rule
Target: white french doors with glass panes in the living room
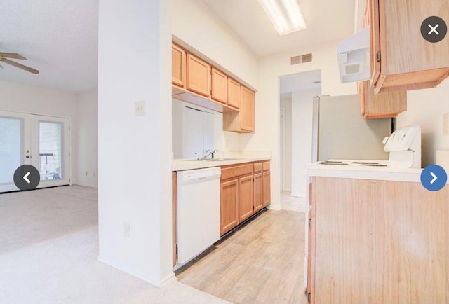
[[0,193],[19,190],[13,174],[20,165],[39,170],[37,188],[69,185],[70,119],[0,111]]

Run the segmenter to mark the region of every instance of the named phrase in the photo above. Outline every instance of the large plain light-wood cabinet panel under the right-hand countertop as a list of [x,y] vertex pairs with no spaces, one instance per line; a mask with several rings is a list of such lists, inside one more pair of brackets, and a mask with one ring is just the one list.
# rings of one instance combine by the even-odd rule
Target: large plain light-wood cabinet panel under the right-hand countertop
[[311,303],[449,303],[449,186],[313,177]]

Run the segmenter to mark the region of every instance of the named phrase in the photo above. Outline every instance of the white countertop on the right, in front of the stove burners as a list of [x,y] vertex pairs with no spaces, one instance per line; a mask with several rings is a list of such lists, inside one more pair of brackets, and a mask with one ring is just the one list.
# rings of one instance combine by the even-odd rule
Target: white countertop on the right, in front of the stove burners
[[[373,162],[387,165],[387,160],[341,160],[344,163],[353,161]],[[365,165],[323,165],[311,163],[307,165],[308,177],[341,177],[347,179],[377,179],[382,181],[412,181],[420,183],[421,168],[373,167]]]

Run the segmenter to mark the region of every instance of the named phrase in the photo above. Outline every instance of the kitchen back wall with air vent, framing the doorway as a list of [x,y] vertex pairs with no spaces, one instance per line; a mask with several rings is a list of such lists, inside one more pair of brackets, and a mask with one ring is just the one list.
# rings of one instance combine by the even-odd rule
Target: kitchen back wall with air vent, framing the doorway
[[[255,106],[255,134],[243,134],[241,147],[247,151],[272,151],[272,207],[280,208],[279,191],[279,76],[321,69],[322,94],[348,95],[356,93],[356,83],[340,83],[337,64],[337,43],[315,48],[298,49],[260,60]],[[313,53],[312,62],[290,65],[290,57]],[[292,181],[293,182],[293,181]]]

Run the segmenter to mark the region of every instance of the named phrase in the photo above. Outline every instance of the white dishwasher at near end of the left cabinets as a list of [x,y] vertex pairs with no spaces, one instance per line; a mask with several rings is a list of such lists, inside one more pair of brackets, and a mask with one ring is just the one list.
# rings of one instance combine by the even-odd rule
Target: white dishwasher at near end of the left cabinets
[[220,240],[220,167],[177,172],[175,270]]

